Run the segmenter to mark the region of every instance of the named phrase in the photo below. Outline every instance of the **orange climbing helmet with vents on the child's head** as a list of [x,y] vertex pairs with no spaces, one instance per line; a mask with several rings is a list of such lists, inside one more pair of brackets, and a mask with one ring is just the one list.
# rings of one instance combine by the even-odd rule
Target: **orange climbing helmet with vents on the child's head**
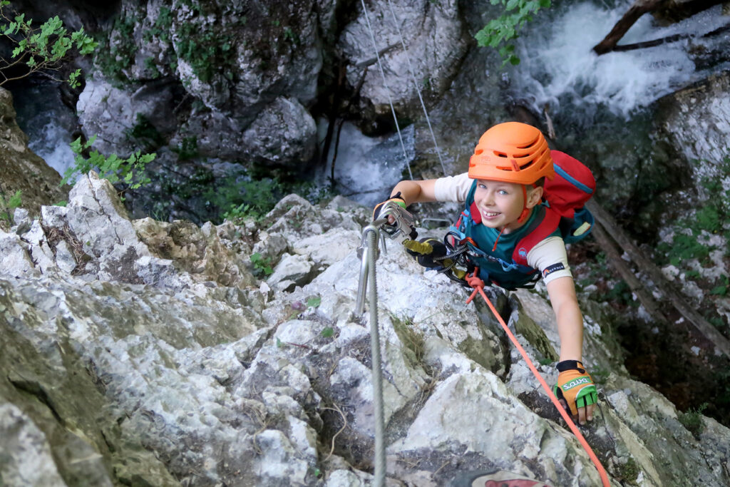
[[499,123],[485,131],[469,159],[472,179],[531,185],[543,176],[555,177],[548,141],[526,123]]

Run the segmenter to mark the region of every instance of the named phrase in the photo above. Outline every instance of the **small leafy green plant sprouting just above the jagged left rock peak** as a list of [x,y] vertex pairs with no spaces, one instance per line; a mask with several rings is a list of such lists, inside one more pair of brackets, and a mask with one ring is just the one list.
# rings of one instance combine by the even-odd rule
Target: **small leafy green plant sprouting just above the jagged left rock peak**
[[152,162],[157,156],[155,153],[142,154],[139,150],[126,159],[116,154],[104,156],[99,151],[93,150],[86,158],[83,153],[96,141],[96,136],[81,142],[81,137],[71,143],[71,150],[76,154],[74,165],[66,169],[61,185],[75,184],[78,175],[84,175],[89,171],[96,170],[99,177],[103,177],[110,183],[123,182],[131,189],[137,189],[150,183],[150,178],[145,173],[145,166]]

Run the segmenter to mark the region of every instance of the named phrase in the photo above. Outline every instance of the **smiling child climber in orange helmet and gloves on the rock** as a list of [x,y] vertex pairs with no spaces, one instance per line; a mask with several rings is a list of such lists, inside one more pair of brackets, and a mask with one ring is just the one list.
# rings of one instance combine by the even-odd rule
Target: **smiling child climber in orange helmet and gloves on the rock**
[[[462,245],[468,250],[470,266],[479,268],[485,283],[514,289],[542,277],[561,344],[556,396],[574,419],[585,424],[593,419],[597,394],[582,363],[583,315],[561,231],[556,224],[554,230],[548,230],[551,233],[543,235],[545,225],[541,225],[552,218],[541,203],[545,178],[553,177],[553,158],[542,133],[525,123],[499,123],[479,139],[469,172],[435,180],[403,180],[393,188],[388,202],[404,208],[426,202],[464,204],[456,233],[450,231],[447,236],[451,244],[448,255],[446,246],[435,239],[404,242],[423,266],[453,269],[454,249]],[[383,204],[375,207],[375,217]],[[469,242],[466,247],[465,242]],[[458,275],[449,270],[452,277]],[[464,272],[458,277],[463,278]]]

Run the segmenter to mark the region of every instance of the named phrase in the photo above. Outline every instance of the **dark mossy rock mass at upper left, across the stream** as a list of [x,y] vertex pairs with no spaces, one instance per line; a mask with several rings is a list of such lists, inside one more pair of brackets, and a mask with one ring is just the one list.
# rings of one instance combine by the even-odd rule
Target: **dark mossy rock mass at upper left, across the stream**
[[130,133],[142,116],[172,147],[196,139],[201,156],[307,161],[315,122],[306,107],[323,64],[318,19],[335,7],[123,1],[109,53],[77,104],[82,128],[99,134],[105,153],[139,148]]

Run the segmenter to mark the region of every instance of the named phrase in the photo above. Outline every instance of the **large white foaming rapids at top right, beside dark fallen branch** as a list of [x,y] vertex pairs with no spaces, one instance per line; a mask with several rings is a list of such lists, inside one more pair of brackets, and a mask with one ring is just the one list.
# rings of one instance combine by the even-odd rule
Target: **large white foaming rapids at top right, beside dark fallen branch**
[[[722,15],[718,5],[681,23],[661,27],[645,14],[619,45],[673,34],[696,37],[626,52],[593,53],[593,46],[602,41],[631,3],[622,2],[612,9],[588,2],[556,7],[549,20],[543,17],[529,23],[518,47],[522,62],[511,76],[512,88],[519,93],[516,96],[537,112],[546,105],[551,113],[568,107],[591,110],[591,106],[604,105],[628,117],[699,79],[688,47],[711,42],[699,36],[730,23],[730,16]],[[543,28],[535,28],[538,25]]]

